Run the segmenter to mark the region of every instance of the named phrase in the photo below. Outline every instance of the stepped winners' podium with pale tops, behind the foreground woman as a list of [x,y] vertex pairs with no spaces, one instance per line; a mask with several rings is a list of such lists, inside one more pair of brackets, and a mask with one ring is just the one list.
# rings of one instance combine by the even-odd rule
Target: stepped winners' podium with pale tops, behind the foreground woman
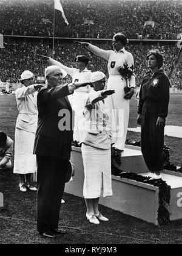
[[[66,183],[65,192],[83,197],[84,168],[80,148],[72,147],[71,161],[76,171],[73,180]],[[127,146],[121,162],[123,171],[149,174],[138,147]],[[162,176],[171,186],[170,220],[182,219],[182,174],[164,171]],[[158,225],[158,187],[112,176],[112,190],[113,196],[101,198],[99,204]]]

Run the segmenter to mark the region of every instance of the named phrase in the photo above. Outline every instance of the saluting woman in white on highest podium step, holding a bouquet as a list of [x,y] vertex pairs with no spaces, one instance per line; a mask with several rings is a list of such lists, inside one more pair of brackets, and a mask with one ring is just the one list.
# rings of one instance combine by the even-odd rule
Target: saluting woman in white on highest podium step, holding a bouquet
[[134,67],[132,54],[124,49],[127,38],[121,33],[115,34],[112,42],[114,51],[106,51],[86,42],[78,41],[78,43],[108,61],[107,90],[115,90],[115,93],[107,98],[107,104],[112,112],[112,142],[115,143],[113,145],[115,148],[123,151],[129,123],[129,99],[132,98],[135,91],[135,75],[132,74],[129,77],[130,91],[125,93],[124,88],[127,87],[127,79],[121,76],[118,70],[124,66],[132,70]]

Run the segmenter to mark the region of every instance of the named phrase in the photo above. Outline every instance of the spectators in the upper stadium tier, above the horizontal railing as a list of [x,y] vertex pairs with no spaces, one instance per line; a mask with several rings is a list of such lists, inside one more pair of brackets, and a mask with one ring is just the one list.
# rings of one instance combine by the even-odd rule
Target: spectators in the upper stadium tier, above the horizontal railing
[[[69,26],[56,11],[56,37],[112,38],[122,31],[128,38],[176,39],[182,29],[180,0],[64,0],[62,7]],[[53,12],[53,0],[1,0],[0,33],[51,37]]]

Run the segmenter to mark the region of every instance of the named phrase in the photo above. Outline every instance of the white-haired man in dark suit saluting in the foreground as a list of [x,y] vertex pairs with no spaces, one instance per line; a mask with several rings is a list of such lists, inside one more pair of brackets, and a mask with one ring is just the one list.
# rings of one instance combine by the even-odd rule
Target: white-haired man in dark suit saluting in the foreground
[[38,93],[38,129],[34,154],[38,163],[38,232],[49,238],[65,233],[58,229],[59,211],[70,165],[73,127],[72,107],[67,96],[81,84],[62,86],[66,72],[58,66],[45,69],[47,88]]

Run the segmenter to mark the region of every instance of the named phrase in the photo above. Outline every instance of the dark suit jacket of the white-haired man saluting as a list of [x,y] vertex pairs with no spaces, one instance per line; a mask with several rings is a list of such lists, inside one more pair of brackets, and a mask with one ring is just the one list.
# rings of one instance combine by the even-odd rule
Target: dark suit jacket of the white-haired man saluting
[[[67,99],[70,95],[67,85],[46,88],[38,93],[38,128],[36,130],[34,154],[70,159],[73,127],[72,107]],[[62,113],[66,112],[66,116]],[[63,119],[62,119],[63,118]],[[67,129],[61,129],[66,120]]]

